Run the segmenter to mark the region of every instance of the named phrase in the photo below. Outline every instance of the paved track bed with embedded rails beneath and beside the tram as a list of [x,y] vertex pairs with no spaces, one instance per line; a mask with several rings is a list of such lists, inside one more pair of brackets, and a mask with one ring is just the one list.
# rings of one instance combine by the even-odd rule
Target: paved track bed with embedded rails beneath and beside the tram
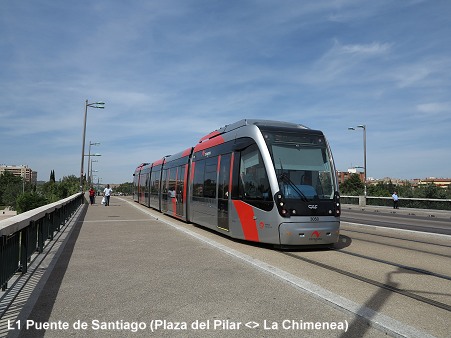
[[[364,226],[360,219],[358,225],[343,222],[334,249],[280,250],[168,220],[227,252],[229,258],[225,259],[242,259],[331,307],[367,320],[369,326],[388,335],[399,336],[398,329],[412,328],[415,333],[409,331],[405,336],[423,337],[425,332],[446,336],[440,323],[446,322],[451,312],[449,236]],[[392,322],[397,323],[395,328],[391,328]]]

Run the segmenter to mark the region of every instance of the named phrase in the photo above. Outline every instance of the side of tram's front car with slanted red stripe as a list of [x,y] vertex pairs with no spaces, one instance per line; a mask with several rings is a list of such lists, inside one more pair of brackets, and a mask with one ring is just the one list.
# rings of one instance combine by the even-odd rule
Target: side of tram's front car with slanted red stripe
[[[233,151],[233,144],[195,153],[190,221],[238,239],[279,243],[277,221],[271,216],[274,203],[258,147],[254,142],[242,156]],[[254,176],[254,183],[240,179],[244,174]]]

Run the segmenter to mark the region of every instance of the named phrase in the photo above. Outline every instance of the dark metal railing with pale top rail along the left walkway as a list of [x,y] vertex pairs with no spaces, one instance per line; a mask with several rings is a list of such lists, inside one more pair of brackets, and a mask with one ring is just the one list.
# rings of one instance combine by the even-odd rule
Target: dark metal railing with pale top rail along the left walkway
[[84,204],[83,193],[0,221],[0,287],[18,272],[25,274],[33,254],[42,253],[45,242]]

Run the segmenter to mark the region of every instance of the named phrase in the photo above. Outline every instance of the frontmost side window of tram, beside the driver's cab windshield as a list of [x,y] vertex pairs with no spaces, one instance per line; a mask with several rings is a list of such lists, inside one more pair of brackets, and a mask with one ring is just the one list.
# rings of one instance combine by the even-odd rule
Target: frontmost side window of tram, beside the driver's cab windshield
[[272,200],[268,175],[257,145],[241,152],[239,195],[243,200]]

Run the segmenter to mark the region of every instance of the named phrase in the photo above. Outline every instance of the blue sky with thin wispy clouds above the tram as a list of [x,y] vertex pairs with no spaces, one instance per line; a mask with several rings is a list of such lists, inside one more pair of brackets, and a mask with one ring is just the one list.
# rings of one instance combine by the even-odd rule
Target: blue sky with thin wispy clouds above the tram
[[0,164],[79,176],[86,99],[102,183],[243,118],[322,130],[343,171],[365,124],[369,177],[450,177],[451,2],[2,1]]

